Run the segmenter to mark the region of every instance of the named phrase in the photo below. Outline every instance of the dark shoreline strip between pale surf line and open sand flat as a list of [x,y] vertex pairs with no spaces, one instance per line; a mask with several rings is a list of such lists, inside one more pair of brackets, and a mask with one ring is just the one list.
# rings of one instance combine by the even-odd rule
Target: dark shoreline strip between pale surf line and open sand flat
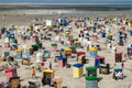
[[72,11],[132,11],[131,4],[0,4],[0,11],[10,10],[72,10]]

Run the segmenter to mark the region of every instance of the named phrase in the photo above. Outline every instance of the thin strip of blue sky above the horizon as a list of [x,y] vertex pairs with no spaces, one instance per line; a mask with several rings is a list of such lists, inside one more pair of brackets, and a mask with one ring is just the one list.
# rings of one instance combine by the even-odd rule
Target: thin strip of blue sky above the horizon
[[132,2],[132,0],[0,0],[0,2],[81,2],[81,3],[92,3],[92,2]]

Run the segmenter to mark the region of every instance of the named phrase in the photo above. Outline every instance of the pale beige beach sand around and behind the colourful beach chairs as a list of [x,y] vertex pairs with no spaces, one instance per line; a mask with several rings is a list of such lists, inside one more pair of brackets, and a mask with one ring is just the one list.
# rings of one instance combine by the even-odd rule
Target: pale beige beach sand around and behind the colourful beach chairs
[[[58,12],[62,12],[62,14],[58,14]],[[127,14],[128,13],[128,14]],[[24,15],[25,14],[25,15]],[[11,11],[0,11],[0,26],[10,26],[11,24],[18,25],[18,26],[28,26],[34,18],[43,18],[43,19],[50,19],[50,18],[58,18],[58,16],[90,16],[90,18],[97,18],[97,16],[106,16],[106,18],[116,18],[116,16],[128,16],[130,18],[131,11],[69,11],[69,10],[11,10]],[[74,36],[77,36],[77,33],[79,29],[76,29],[74,26],[74,22],[72,22],[68,26],[72,26],[74,29]],[[67,26],[66,26],[67,28]],[[66,29],[65,28],[65,29]],[[63,34],[64,35],[64,34]],[[113,31],[113,35],[116,35],[116,31]],[[54,35],[55,36],[55,35]],[[52,42],[54,42],[54,36],[52,37]],[[19,44],[23,44],[23,42],[19,38]],[[113,38],[117,40],[117,36]],[[113,65],[114,63],[114,54],[111,53],[110,50],[107,48],[107,45],[105,44],[105,38],[98,40],[101,47],[105,48],[103,51],[99,52],[99,55],[106,57],[106,62],[110,65]],[[32,44],[32,41],[26,41],[25,45]],[[45,46],[47,50],[50,50],[50,43],[51,42],[44,42],[43,46]],[[118,46],[117,48],[122,52],[127,52],[128,44],[132,43],[132,37],[129,36],[128,42],[124,44],[124,46]],[[117,44],[117,42],[116,42]],[[9,51],[3,47],[3,38],[0,40],[0,52],[3,53],[4,51]],[[86,51],[86,48],[84,48]],[[89,53],[86,52],[87,58],[89,59],[88,64],[85,64],[85,67],[92,66],[94,65],[94,58],[89,58]],[[11,53],[12,55],[15,55],[15,52]],[[48,62],[53,62],[54,54],[52,54],[51,58],[45,62],[45,67],[48,67]],[[76,58],[68,58],[69,64],[74,64]],[[21,61],[20,65],[21,65]],[[35,55],[31,56],[31,62],[35,62]],[[128,59],[124,63],[123,74],[127,76],[127,78],[122,80],[114,80],[112,78],[113,68],[110,69],[110,75],[100,75],[98,74],[98,77],[102,77],[102,79],[99,81],[99,88],[130,88],[132,85],[132,61]],[[0,62],[0,64],[2,64]],[[30,67],[34,66],[22,66],[18,68],[18,75],[23,79],[21,81],[21,85],[28,85],[28,79],[31,79],[31,74],[29,72]],[[84,70],[85,70],[84,67]],[[79,79],[73,78],[73,67],[72,68],[61,68],[57,66],[56,63],[53,63],[53,69],[55,69],[55,76],[59,76],[63,78],[63,86],[67,86],[67,88],[85,88],[85,77],[81,77]],[[85,72],[84,72],[85,73]],[[37,80],[41,81],[42,73],[36,72],[36,76],[38,76]],[[4,72],[0,72],[0,81],[6,81],[6,74]],[[40,88],[46,88],[46,87],[40,87]]]

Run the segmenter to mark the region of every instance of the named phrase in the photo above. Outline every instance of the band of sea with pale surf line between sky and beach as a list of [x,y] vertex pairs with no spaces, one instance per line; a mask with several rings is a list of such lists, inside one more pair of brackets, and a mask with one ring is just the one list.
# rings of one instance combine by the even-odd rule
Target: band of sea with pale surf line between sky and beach
[[[0,0],[1,1],[1,0]],[[8,4],[8,7],[6,6]],[[13,6],[15,4],[15,6]],[[21,4],[21,6],[19,6]],[[89,11],[132,10],[132,3],[34,3],[34,2],[0,2],[0,10],[12,9],[66,9]],[[9,7],[10,6],[10,7]]]

